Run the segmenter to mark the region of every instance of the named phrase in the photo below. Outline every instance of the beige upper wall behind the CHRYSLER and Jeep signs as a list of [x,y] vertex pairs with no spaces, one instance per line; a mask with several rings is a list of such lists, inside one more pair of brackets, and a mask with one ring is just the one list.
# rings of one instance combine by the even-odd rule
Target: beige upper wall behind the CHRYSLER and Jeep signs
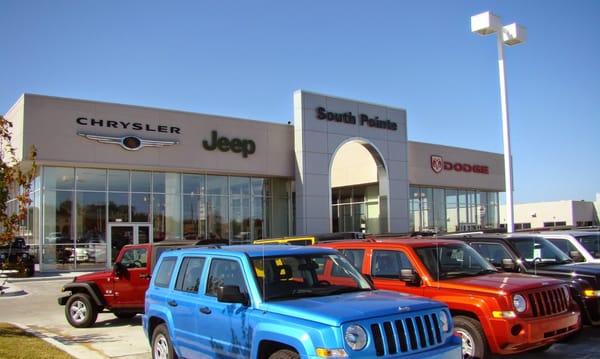
[[[25,95],[24,145],[35,145],[40,164],[122,167],[162,171],[190,171],[257,176],[294,176],[293,128],[289,125],[241,120],[138,106]],[[178,127],[180,134],[157,131],[80,125],[79,117],[139,122],[151,128]],[[21,122],[23,120],[21,119]],[[89,121],[88,121],[89,122]],[[228,138],[251,139],[256,152],[207,151],[203,140],[211,132]],[[179,141],[162,148],[144,147],[128,151],[115,144],[101,144],[77,133]]]

